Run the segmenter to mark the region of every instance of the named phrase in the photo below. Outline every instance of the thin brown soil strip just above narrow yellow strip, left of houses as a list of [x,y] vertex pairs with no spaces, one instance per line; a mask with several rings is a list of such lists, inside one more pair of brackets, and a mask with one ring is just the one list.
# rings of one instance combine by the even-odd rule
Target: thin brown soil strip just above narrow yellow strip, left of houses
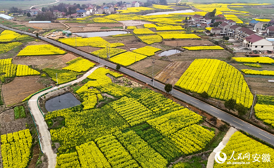
[[202,45],[213,45],[212,42],[208,40],[173,40],[173,41],[163,41],[164,45],[172,47],[181,46],[202,46]]

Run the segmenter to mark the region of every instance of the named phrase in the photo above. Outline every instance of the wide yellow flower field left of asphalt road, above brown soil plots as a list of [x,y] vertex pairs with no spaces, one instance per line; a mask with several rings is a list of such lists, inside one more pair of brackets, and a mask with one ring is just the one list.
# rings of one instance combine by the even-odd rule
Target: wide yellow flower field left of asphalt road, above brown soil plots
[[28,45],[17,56],[63,55],[66,52],[53,45]]

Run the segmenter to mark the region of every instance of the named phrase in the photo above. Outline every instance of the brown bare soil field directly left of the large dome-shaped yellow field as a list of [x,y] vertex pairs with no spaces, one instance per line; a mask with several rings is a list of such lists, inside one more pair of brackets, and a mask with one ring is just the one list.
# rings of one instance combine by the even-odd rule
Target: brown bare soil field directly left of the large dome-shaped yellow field
[[164,83],[175,84],[191,63],[192,61],[177,61],[170,63],[155,77],[155,79]]

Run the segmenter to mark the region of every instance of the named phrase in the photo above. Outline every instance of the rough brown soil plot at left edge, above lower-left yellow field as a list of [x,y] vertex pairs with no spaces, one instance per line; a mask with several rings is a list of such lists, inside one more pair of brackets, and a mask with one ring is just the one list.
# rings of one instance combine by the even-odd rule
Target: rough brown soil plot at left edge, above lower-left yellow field
[[26,123],[28,123],[27,118],[14,119],[13,109],[0,113],[1,135],[17,132],[19,130],[25,130]]

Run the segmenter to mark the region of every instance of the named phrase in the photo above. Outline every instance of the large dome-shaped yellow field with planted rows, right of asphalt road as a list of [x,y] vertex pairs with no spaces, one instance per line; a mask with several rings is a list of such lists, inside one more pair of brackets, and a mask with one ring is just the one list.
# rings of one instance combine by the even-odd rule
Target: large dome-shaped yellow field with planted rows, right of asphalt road
[[175,86],[202,93],[212,98],[233,98],[245,107],[251,107],[253,95],[240,71],[217,59],[195,59]]

